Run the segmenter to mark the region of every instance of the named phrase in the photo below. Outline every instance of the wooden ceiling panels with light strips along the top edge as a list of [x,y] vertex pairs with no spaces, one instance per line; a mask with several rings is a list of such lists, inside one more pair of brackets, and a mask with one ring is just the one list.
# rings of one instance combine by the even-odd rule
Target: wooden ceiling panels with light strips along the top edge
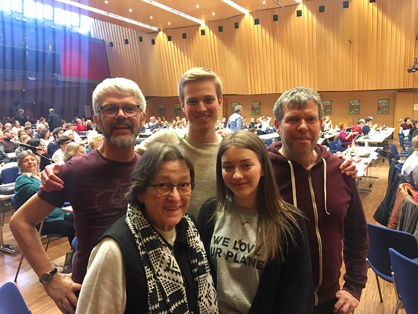
[[[52,3],[53,6],[60,6],[65,8],[65,10],[74,10],[75,12],[88,15],[97,20],[104,20],[113,24],[119,24],[123,27],[128,27],[131,29],[137,29],[145,33],[150,33],[152,30],[139,27],[135,24],[130,24],[121,20],[114,19],[112,17],[107,17],[105,15],[100,15],[98,13],[86,12],[85,10],[80,10],[69,6],[68,4],[63,5],[60,3],[60,0],[41,0],[43,3]],[[179,27],[189,27],[196,25],[196,22],[192,20],[187,20],[184,17],[180,17],[174,13],[171,13],[162,8],[157,8],[156,6],[146,3],[142,0],[71,0],[77,3],[82,3],[86,6],[91,6],[93,8],[98,8],[109,13],[120,15],[122,17],[141,22],[144,24],[149,24],[153,27],[157,27],[164,31],[165,29],[176,29]],[[234,17],[237,15],[242,15],[239,10],[229,6],[224,3],[222,0],[157,0],[159,3],[169,6],[170,8],[179,10],[180,12],[196,17],[199,20],[205,22],[215,21],[215,20],[225,20],[229,17]],[[306,1],[306,0],[305,0]],[[107,3],[106,3],[107,2]],[[297,6],[295,0],[234,0],[235,3],[242,6],[246,10],[249,10],[250,14],[258,10],[267,10],[271,8],[281,8],[286,10],[287,6]],[[283,6],[282,8],[278,3]],[[199,5],[199,8],[196,6]],[[132,12],[130,12],[130,9]],[[215,15],[212,15],[215,13]],[[153,18],[151,18],[151,16]],[[170,23],[170,24],[168,24]]]

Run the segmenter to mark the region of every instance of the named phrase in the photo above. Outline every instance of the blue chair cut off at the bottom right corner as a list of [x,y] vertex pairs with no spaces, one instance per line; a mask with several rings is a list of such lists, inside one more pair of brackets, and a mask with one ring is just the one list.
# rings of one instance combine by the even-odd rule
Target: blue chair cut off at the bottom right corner
[[398,303],[394,313],[399,308],[405,308],[406,313],[418,313],[418,262],[402,255],[393,248],[389,248],[390,261],[392,263],[392,278],[398,294]]

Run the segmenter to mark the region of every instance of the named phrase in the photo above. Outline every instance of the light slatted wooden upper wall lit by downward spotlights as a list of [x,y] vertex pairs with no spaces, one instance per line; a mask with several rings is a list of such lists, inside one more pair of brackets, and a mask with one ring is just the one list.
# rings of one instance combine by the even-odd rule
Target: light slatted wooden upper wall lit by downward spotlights
[[208,22],[206,36],[197,26],[139,33],[95,21],[93,36],[114,41],[113,48],[107,47],[111,75],[134,79],[147,96],[175,96],[180,76],[193,66],[222,77],[224,94],[274,94],[297,85],[318,91],[417,88],[417,73],[406,71],[418,53],[417,1],[349,3],[342,8],[342,1],[312,0],[286,10],[238,15]]

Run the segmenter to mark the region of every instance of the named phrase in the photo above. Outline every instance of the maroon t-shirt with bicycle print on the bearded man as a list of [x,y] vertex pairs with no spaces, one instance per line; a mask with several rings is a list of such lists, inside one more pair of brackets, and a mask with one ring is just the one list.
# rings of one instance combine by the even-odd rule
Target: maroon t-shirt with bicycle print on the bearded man
[[95,149],[65,163],[58,174],[64,181],[63,190],[38,193],[42,200],[55,207],[61,207],[64,202],[72,206],[78,241],[72,260],[72,280],[76,283],[82,283],[86,276],[88,257],[95,241],[126,213],[124,193],[139,158],[141,156],[135,154],[131,161],[119,163],[104,158]]

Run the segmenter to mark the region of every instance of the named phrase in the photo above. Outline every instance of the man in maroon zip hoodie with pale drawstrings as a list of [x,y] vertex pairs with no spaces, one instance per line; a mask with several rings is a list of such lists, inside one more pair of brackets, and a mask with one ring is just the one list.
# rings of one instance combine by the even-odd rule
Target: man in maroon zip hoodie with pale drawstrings
[[317,144],[322,112],[316,91],[284,92],[274,104],[281,142],[268,151],[281,195],[307,216],[314,313],[348,314],[359,305],[367,281],[369,237],[355,180],[341,174],[341,159]]

